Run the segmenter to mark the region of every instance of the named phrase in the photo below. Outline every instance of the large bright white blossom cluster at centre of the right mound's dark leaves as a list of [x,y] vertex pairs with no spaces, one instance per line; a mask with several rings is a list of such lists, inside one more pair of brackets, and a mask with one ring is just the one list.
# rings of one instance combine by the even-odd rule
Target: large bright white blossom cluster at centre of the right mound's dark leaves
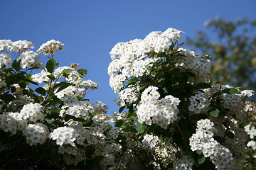
[[149,86],[143,91],[137,111],[138,121],[146,125],[154,123],[166,129],[170,123],[178,120],[177,106],[180,100],[171,95],[159,99],[157,89]]

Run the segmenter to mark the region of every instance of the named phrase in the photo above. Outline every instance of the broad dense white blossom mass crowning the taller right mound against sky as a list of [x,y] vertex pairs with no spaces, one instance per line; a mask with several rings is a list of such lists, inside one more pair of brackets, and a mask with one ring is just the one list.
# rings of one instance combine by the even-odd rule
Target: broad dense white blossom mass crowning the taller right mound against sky
[[168,28],[164,32],[152,32],[144,40],[117,43],[110,52],[113,61],[108,67],[113,91],[117,93],[122,88],[122,81],[128,77],[141,77],[148,72],[148,67],[159,59],[149,57],[149,52],[165,52],[175,40],[180,39],[180,33],[182,31]]

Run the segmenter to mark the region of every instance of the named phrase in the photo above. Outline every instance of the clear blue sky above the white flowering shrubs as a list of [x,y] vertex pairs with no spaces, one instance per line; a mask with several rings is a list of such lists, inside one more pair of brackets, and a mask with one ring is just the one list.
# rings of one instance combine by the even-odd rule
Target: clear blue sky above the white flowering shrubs
[[[231,21],[256,18],[255,9],[255,0],[0,0],[0,39],[28,40],[36,50],[48,40],[63,42],[65,50],[55,60],[61,66],[77,62],[87,69],[87,79],[100,84],[87,97],[106,103],[112,113],[118,108],[107,67],[117,42],[170,27],[185,31],[184,38],[193,37],[215,16]],[[46,64],[46,57],[41,57]]]

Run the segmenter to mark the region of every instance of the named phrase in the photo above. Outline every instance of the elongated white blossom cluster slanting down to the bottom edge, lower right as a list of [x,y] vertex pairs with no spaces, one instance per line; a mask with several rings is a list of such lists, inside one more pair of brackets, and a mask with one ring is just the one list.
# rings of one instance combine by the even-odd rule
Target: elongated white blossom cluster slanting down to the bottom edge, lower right
[[196,133],[189,138],[192,151],[210,157],[216,169],[239,169],[233,160],[233,154],[214,140],[214,124],[209,119],[198,120]]

